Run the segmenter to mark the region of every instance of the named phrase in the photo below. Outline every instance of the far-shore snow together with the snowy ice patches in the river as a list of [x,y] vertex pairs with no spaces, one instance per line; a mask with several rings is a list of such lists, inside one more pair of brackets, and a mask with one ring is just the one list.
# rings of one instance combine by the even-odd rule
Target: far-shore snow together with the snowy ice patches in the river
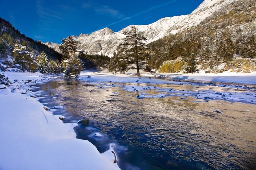
[[[92,84],[100,83],[98,88],[103,90],[120,88],[120,90],[136,92],[134,97],[139,99],[176,96],[183,100],[188,99],[188,97],[194,97],[196,99],[195,102],[227,100],[229,102],[256,104],[256,87],[254,86],[256,85],[256,73],[156,73],[154,75],[140,73],[141,77],[136,77],[135,75],[136,70],[130,70],[126,74],[112,74],[104,71],[82,72],[79,79]],[[88,78],[88,76],[90,77]],[[169,80],[159,79],[160,77],[169,78]],[[122,83],[129,84],[124,85]],[[176,89],[160,87],[160,84],[174,85]],[[177,85],[192,85],[195,88],[191,91],[185,91],[177,87]],[[155,91],[154,94],[152,94],[152,90]],[[139,95],[138,92],[140,93]]]

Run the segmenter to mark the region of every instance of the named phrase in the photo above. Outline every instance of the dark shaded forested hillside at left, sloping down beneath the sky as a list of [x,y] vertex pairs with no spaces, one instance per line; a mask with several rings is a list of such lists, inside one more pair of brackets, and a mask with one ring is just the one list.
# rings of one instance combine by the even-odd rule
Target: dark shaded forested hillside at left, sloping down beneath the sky
[[[28,48],[28,50],[37,56],[43,51],[48,56],[48,59],[59,61],[61,60],[62,55],[56,52],[54,49],[49,48],[47,45],[37,42],[24,34],[21,34],[20,31],[16,30],[11,23],[0,18],[0,59],[1,62],[11,62],[5,61],[8,58],[13,58],[13,49],[15,43],[20,43]],[[5,63],[7,64],[7,63]]]

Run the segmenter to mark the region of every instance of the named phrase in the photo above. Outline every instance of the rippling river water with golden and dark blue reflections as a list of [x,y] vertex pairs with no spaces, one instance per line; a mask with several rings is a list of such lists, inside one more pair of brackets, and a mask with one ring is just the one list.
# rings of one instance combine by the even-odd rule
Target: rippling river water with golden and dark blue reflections
[[[54,102],[65,107],[61,114],[68,112],[66,122],[90,119],[89,124],[75,128],[78,138],[91,141],[100,152],[116,142],[123,170],[255,168],[256,105],[205,102],[191,96],[138,99],[135,96],[141,92],[123,90],[123,85],[138,84],[102,88],[99,83],[57,80],[42,84],[41,89],[53,93]],[[205,88],[157,86],[187,91]],[[163,92],[151,89],[147,93]]]

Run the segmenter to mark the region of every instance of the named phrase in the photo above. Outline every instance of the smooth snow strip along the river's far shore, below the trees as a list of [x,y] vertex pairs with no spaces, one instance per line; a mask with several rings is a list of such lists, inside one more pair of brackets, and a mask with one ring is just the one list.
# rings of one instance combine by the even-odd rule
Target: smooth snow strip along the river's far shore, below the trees
[[[88,72],[84,71],[80,73],[80,79],[90,81],[104,81],[104,82],[140,82],[140,83],[165,83],[165,84],[180,84],[176,81],[168,81],[155,79],[160,77],[168,77],[180,80],[196,80],[196,81],[218,81],[228,83],[244,83],[244,84],[256,84],[256,73],[155,73],[152,75],[148,72],[140,73],[141,77],[137,77],[135,70],[129,70],[126,74],[113,74],[102,72]],[[90,76],[90,78],[88,78]],[[149,77],[151,77],[149,79]],[[184,84],[184,82],[182,82]]]

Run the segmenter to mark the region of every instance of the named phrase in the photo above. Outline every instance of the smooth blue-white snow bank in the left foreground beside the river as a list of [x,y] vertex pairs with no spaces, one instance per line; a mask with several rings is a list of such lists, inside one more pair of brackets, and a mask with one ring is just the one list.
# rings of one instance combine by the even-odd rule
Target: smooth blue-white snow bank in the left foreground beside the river
[[[38,73],[5,74],[12,81],[42,79]],[[92,143],[76,139],[77,124],[63,124],[60,115],[46,111],[31,93],[0,85],[1,170],[119,169],[113,148],[100,154]]]

